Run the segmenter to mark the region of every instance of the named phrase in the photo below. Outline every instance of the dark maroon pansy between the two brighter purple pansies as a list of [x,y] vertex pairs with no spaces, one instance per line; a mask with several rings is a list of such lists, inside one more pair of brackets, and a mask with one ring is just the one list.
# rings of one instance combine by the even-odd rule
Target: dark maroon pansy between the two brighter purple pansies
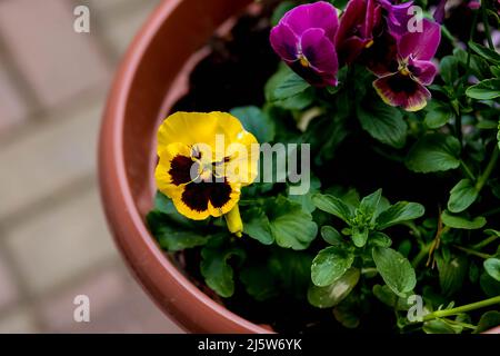
[[381,19],[376,0],[351,0],[340,19],[336,44],[341,63],[351,63],[373,43],[373,29]]

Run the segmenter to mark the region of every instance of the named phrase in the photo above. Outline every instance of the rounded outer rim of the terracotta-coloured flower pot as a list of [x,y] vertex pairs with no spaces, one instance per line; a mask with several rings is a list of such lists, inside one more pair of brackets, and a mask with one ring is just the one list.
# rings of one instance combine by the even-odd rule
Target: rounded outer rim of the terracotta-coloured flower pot
[[[120,249],[122,257],[127,260],[128,267],[132,269],[136,279],[166,314],[170,314],[168,308],[162,304],[162,300],[152,293],[152,290],[158,290],[159,288],[156,281],[160,275],[169,275],[177,284],[176,288],[184,289],[184,291],[192,295],[197,303],[202,305],[208,313],[211,313],[212,316],[226,319],[226,322],[229,322],[230,327],[238,330],[238,333],[267,334],[269,333],[269,329],[253,324],[216,303],[194,286],[172,264],[158,246],[156,239],[149,233],[143,218],[140,216],[127,178],[122,134],[129,93],[144,53],[151,46],[151,42],[163,22],[168,20],[182,1],[183,0],[164,0],[157,7],[133,39],[116,75],[108,96],[99,137],[98,174],[101,201],[104,206],[106,216],[114,237],[114,243]],[[109,187],[111,187],[111,189]],[[122,207],[122,209],[117,211],[111,208],[111,205],[114,207]],[[153,265],[156,266],[138,266],[138,264],[132,263],[139,258],[137,256],[139,253],[134,251],[129,241],[120,236],[119,228],[117,227],[117,221],[119,219],[127,220],[127,224],[124,225],[133,227],[136,231],[130,234],[140,239],[140,244],[144,248],[143,253],[146,253],[149,258],[153,259]],[[141,256],[140,258],[143,259],[144,256]],[[162,270],[154,269],[158,267]],[[174,322],[179,324],[178,320]],[[179,324],[179,326],[187,329],[186,325]]]

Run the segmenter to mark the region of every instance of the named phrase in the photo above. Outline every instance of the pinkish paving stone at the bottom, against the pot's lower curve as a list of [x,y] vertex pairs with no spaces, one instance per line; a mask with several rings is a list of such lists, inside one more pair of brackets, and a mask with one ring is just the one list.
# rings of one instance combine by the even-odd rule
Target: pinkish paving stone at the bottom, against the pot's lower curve
[[[73,320],[77,295],[90,299],[90,322]],[[124,266],[108,268],[41,305],[52,333],[182,333],[131,280]]]

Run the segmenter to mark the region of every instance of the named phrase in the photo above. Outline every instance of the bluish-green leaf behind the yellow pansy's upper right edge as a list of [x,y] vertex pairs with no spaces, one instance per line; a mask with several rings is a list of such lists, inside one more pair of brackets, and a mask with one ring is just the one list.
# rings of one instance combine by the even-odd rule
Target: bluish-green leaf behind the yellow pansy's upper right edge
[[231,110],[244,129],[253,134],[260,144],[271,142],[274,139],[274,121],[258,107],[240,107]]

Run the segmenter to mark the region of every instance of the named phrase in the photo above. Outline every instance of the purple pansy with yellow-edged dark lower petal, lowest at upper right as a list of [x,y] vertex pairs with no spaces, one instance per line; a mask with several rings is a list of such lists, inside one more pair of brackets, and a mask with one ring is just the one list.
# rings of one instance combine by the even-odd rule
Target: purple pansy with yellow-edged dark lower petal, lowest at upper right
[[428,19],[422,20],[422,32],[407,32],[397,43],[398,69],[378,73],[373,82],[379,96],[388,105],[418,111],[431,97],[424,86],[432,83],[437,67],[431,62],[441,40],[441,28]]

